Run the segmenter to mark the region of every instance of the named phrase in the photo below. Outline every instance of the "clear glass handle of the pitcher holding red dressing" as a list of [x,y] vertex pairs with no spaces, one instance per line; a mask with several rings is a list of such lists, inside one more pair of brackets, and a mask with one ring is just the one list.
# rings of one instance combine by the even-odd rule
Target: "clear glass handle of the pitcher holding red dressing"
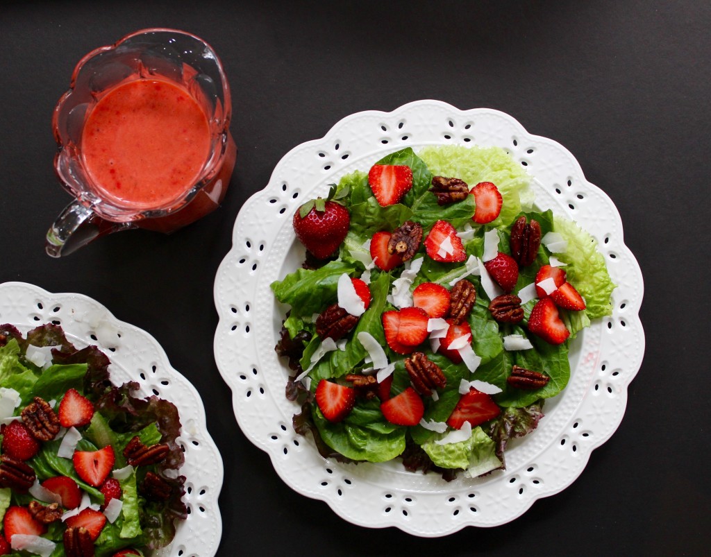
[[52,257],[69,255],[99,237],[132,227],[130,222],[103,220],[90,208],[73,201],[47,231],[45,250]]

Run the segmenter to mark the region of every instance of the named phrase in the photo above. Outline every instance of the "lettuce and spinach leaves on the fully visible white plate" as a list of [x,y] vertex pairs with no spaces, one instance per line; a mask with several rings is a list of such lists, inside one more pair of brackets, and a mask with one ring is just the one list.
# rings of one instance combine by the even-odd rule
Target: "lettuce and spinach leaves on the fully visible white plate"
[[[289,365],[296,371],[287,386],[288,396],[302,404],[301,413],[294,416],[294,427],[304,435],[311,431],[322,455],[343,461],[382,462],[400,456],[408,469],[437,470],[447,479],[454,477],[452,470],[465,470],[467,475],[476,476],[504,467],[503,453],[508,440],[533,431],[543,415],[544,399],[556,396],[565,389],[570,378],[570,340],[552,345],[528,332],[525,324],[535,299],[523,304],[525,318],[522,323],[498,323],[488,310],[490,300],[476,277],[468,277],[477,288],[476,304],[469,314],[468,323],[472,332],[471,347],[481,362],[471,372],[466,364],[451,362],[433,352],[427,342],[418,347],[417,350],[436,363],[447,378],[447,385],[438,390],[436,398],[424,397],[424,418],[420,425],[405,427],[389,423],[380,411],[377,398],[366,400],[359,397],[353,411],[341,422],[331,423],[324,418],[314,401],[319,380],[336,379],[338,382],[346,374],[358,374],[368,367],[368,351],[358,340],[360,332],[372,335],[383,346],[388,361],[395,363],[391,387],[393,396],[410,386],[405,356],[393,352],[387,345],[381,321],[385,310],[395,309],[389,295],[402,268],[385,272],[369,266],[367,242],[375,232],[392,231],[406,220],[419,222],[424,229],[423,237],[427,236],[434,222],[447,220],[464,232],[461,237],[466,255],[481,259],[485,232],[496,229],[498,250],[510,254],[510,225],[521,215],[525,215],[527,220],[535,219],[540,224],[542,235],[557,232],[567,240],[567,252],[556,255],[566,264],[570,283],[587,301],[585,310],[560,310],[564,323],[572,333],[571,338],[589,325],[590,320],[611,313],[610,294],[614,284],[604,259],[595,249],[592,237],[574,222],[554,216],[550,210],[540,212],[533,208],[534,195],[529,175],[501,148],[429,146],[417,154],[412,148],[405,148],[385,156],[378,164],[411,168],[412,189],[402,202],[381,207],[370,189],[367,173],[355,171],[343,176],[336,191],[342,194],[341,201],[350,212],[351,222],[337,257],[317,269],[298,269],[281,281],[272,283],[277,300],[290,306],[277,352],[289,357]],[[473,195],[460,202],[438,205],[434,194],[429,191],[433,175],[454,176],[466,181],[470,187],[481,181],[495,183],[503,198],[500,215],[488,225],[476,225],[472,222],[476,208]],[[423,257],[424,261],[410,291],[424,282],[450,288],[453,281],[466,274],[466,263],[440,263],[422,252],[424,249],[420,247],[413,258],[414,261]],[[535,264],[520,269],[514,292],[535,281],[536,271],[550,263],[550,255],[545,247],[540,247]],[[326,352],[312,362],[321,345],[321,339],[316,335],[316,315],[336,301],[338,277],[343,273],[353,278],[365,276],[370,279],[370,306],[360,316],[355,329],[346,335],[345,345]],[[533,348],[505,350],[503,337],[508,335],[521,335],[530,341]],[[516,389],[507,382],[514,365],[538,370],[550,380],[540,389]],[[295,378],[309,368],[308,377],[296,382]],[[501,414],[472,428],[472,434],[466,440],[437,443],[447,433],[432,431],[422,423],[447,421],[460,399],[462,380],[479,380],[501,389],[498,394],[493,394],[493,400],[501,407]]]

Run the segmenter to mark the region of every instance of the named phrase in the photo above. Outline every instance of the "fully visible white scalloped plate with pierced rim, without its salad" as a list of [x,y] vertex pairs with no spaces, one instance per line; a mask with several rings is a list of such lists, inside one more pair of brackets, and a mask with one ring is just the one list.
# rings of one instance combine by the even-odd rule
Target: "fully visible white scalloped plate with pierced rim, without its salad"
[[[286,308],[269,284],[303,261],[292,215],[325,195],[328,184],[385,154],[411,146],[501,146],[533,175],[536,206],[577,220],[599,242],[613,281],[613,315],[597,320],[572,343],[570,383],[546,401],[545,418],[530,436],[510,443],[507,470],[486,478],[444,482],[405,471],[397,462],[359,465],[324,460],[313,440],[294,433],[299,409],[284,397],[289,371],[274,345]],[[639,266],[624,245],[614,204],[585,180],[560,144],[528,134],[491,109],[459,110],[424,100],[393,112],[359,112],[322,139],[289,151],[264,190],[237,215],[232,249],[215,277],[215,360],[232,389],[237,423],[269,453],[280,477],[297,492],[322,499],[343,519],[362,526],[396,526],[417,536],[442,536],[464,526],[496,526],[523,514],[540,497],[560,492],[582,472],[591,451],[619,425],[627,385],[638,371],[644,335]]]

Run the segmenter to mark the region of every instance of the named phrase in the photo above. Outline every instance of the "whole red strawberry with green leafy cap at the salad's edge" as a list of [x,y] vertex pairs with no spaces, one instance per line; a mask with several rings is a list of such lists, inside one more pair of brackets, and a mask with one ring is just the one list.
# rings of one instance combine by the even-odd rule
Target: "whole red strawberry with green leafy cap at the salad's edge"
[[[334,198],[336,188],[332,187],[328,198],[316,198],[304,203],[294,213],[294,232],[316,259],[326,259],[336,252],[348,234],[351,215]],[[341,191],[338,198],[345,193]]]

